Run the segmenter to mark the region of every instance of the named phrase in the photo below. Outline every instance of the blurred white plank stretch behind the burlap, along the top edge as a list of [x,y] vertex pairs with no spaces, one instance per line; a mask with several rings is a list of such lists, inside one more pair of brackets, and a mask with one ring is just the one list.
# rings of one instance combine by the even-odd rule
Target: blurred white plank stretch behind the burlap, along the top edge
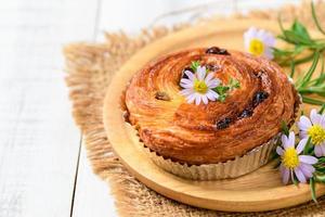
[[[235,0],[119,0],[114,4],[109,1],[103,1],[99,28],[101,31],[116,31],[122,29],[127,33],[139,33],[141,28],[151,26],[157,17],[160,17],[157,24],[171,25],[192,21],[198,15],[205,16],[212,13],[226,14],[233,11],[234,1]],[[126,16],[126,14],[128,15]],[[164,18],[160,16],[164,14],[170,15]]]

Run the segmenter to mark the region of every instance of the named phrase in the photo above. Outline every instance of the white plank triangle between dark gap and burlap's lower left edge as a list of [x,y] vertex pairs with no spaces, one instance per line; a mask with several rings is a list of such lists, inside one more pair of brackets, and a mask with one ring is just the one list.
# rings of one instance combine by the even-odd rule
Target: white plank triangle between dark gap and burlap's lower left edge
[[92,173],[86,152],[82,146],[73,216],[117,216],[109,186]]

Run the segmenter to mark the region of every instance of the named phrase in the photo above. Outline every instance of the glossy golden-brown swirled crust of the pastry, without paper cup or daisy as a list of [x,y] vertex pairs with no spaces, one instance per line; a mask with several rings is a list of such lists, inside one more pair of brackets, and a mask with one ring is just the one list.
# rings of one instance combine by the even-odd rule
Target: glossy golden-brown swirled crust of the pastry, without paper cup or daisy
[[[231,55],[207,54],[192,49],[148,63],[134,75],[126,92],[129,119],[146,146],[166,158],[187,164],[211,164],[242,156],[269,141],[290,123],[297,92],[280,66],[237,51]],[[179,91],[182,72],[192,61],[216,66],[216,77],[240,82],[224,102],[188,104]],[[257,92],[268,98],[255,103]],[[253,105],[257,104],[257,105]],[[242,116],[243,111],[251,116]],[[217,124],[231,119],[221,129]]]

